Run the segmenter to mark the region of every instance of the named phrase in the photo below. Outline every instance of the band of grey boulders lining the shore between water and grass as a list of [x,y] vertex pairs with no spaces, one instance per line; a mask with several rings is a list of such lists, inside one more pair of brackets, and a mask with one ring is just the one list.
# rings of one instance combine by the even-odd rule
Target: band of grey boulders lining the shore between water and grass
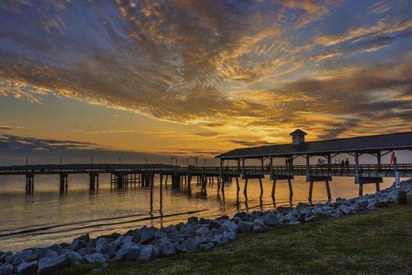
[[[412,179],[402,181],[402,189],[412,192]],[[178,253],[210,250],[234,241],[243,234],[306,223],[316,216],[338,218],[391,206],[396,203],[395,192],[391,186],[363,197],[337,198],[336,202],[314,205],[298,203],[295,208],[282,206],[266,212],[238,212],[231,219],[228,216],[216,219],[190,217],[187,223],[166,228],[145,226],[125,234],[113,233],[95,239],[85,234],[74,239],[71,244],[28,248],[14,255],[0,252],[0,274],[8,274],[1,273],[1,270],[12,270],[18,274],[49,274],[80,263],[106,265],[119,261],[148,261]]]

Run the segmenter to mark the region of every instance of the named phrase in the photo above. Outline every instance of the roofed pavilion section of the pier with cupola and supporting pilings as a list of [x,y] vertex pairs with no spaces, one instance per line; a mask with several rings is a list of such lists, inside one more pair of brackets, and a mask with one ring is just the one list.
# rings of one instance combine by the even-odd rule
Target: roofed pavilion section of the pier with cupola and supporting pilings
[[[279,180],[287,180],[290,196],[293,195],[291,180],[295,175],[306,176],[309,183],[309,201],[312,200],[312,188],[314,181],[324,181],[331,199],[329,182],[332,177],[354,177],[354,183],[358,184],[359,196],[363,195],[363,184],[379,184],[383,177],[395,177],[393,164],[382,164],[382,157],[393,151],[411,151],[412,132],[390,133],[384,135],[369,135],[362,137],[349,137],[334,140],[319,140],[305,142],[307,133],[297,129],[290,133],[292,142],[290,144],[279,144],[271,146],[258,146],[249,148],[237,148],[227,153],[216,156],[220,159],[220,177],[225,177],[229,170],[238,170],[244,179],[244,195],[247,195],[248,179],[259,179],[261,192],[262,178],[269,175],[273,180],[272,197],[275,197],[275,186]],[[332,159],[343,157],[343,154],[352,156],[352,164],[332,163]],[[361,155],[371,155],[376,158],[374,164],[361,164]],[[297,157],[305,159],[303,165],[293,164]],[[325,162],[313,164],[313,158],[324,157]],[[286,165],[273,165],[277,158],[287,159]],[[260,166],[245,166],[247,159],[260,160]],[[354,161],[353,161],[354,159]],[[409,159],[409,158],[408,158]],[[225,166],[225,161],[236,161],[237,166]],[[412,177],[411,161],[404,164],[396,164],[400,177]],[[264,162],[268,164],[264,165]]]

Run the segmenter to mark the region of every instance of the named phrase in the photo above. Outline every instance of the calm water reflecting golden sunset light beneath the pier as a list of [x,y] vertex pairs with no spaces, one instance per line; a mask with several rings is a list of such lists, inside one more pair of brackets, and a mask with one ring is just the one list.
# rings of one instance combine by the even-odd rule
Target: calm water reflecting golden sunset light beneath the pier
[[[381,188],[393,179],[386,178]],[[25,195],[25,176],[0,177],[0,250],[19,251],[23,248],[70,242],[74,237],[89,232],[99,236],[111,232],[126,232],[143,225],[168,225],[187,217],[217,217],[234,214],[238,210],[268,210],[275,206],[296,204],[308,200],[309,185],[304,177],[292,181],[293,200],[289,201],[287,181],[278,181],[275,203],[271,198],[272,183],[263,179],[264,194],[260,197],[258,179],[249,180],[248,197],[240,193],[236,181],[225,186],[225,196],[214,185],[207,186],[207,195],[192,181],[191,191],[174,190],[163,186],[163,205],[160,206],[159,177],[155,178],[153,209],[150,210],[150,190],[129,187],[110,188],[110,175],[100,175],[100,188],[89,190],[88,175],[69,175],[67,194],[60,194],[58,175],[36,175],[34,194]],[[332,199],[356,197],[358,186],[349,177],[334,177],[330,182]],[[364,194],[375,192],[374,184],[364,186]],[[328,198],[325,184],[314,184],[313,202]]]

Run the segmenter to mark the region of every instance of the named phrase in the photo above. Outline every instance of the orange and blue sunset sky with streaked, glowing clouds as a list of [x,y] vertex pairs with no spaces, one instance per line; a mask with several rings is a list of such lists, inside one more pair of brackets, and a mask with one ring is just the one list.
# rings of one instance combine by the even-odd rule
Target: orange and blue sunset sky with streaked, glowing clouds
[[0,0],[0,165],[186,164],[411,121],[411,0]]

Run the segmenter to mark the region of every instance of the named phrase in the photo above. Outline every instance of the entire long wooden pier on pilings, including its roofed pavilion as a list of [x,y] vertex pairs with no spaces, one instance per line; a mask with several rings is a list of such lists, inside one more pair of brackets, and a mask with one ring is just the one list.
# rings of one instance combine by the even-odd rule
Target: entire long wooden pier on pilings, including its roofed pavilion
[[[214,184],[216,179],[218,190],[225,192],[225,185],[236,181],[237,190],[240,190],[239,179],[244,179],[245,197],[250,181],[258,179],[260,195],[263,194],[262,179],[269,177],[273,180],[271,195],[275,198],[275,188],[279,182],[287,181],[290,198],[293,197],[292,181],[295,176],[305,176],[309,183],[308,200],[312,200],[312,190],[315,181],[324,181],[331,199],[330,183],[333,177],[353,177],[354,184],[358,185],[359,196],[363,195],[363,184],[375,184],[376,190],[380,189],[383,177],[395,177],[396,172],[400,177],[412,177],[412,164],[382,164],[381,157],[396,150],[412,149],[412,132],[395,133],[389,135],[374,135],[369,137],[352,137],[340,140],[323,140],[319,142],[304,142],[303,131],[295,131],[292,144],[274,146],[261,146],[252,148],[240,148],[229,151],[220,158],[220,166],[207,167],[181,167],[181,166],[146,166],[141,164],[128,165],[127,168],[93,168],[89,164],[78,164],[75,167],[44,166],[35,169],[26,168],[0,168],[0,175],[25,175],[27,194],[34,192],[35,175],[60,175],[60,191],[67,192],[69,186],[68,177],[71,174],[89,174],[90,189],[99,188],[99,175],[110,174],[111,188],[124,189],[128,186],[141,186],[152,190],[155,177],[159,177],[160,192],[163,184],[172,188],[191,188],[192,181],[201,186],[201,191],[206,192],[207,183]],[[331,159],[339,154],[352,155],[354,164],[332,164]],[[374,155],[376,164],[361,164],[359,157],[364,154]],[[296,159],[301,157],[305,165],[296,165]],[[310,164],[312,157],[325,157],[327,162],[323,164]],[[276,158],[286,159],[287,165],[273,165]],[[246,166],[247,159],[260,160],[260,165]],[[229,166],[229,161],[236,161],[236,166]],[[396,160],[396,159],[395,159]],[[266,161],[266,165],[264,162]],[[225,165],[226,162],[226,165]],[[394,169],[396,167],[396,170]]]

